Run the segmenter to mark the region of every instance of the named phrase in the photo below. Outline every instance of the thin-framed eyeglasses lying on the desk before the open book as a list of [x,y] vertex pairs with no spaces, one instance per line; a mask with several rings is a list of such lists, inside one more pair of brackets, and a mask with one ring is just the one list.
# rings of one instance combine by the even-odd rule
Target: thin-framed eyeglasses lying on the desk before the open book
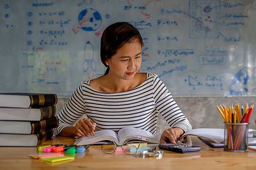
[[138,148],[140,148],[140,143],[138,147],[135,145],[116,146],[115,143],[101,146],[102,152],[106,154],[111,154],[114,152],[123,152],[127,155],[134,155],[137,153]]

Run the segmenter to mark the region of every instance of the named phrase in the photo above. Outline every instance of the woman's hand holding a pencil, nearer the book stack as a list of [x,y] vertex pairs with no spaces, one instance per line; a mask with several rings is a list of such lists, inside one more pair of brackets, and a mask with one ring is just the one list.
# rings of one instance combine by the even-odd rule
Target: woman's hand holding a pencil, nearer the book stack
[[83,118],[77,122],[76,127],[74,127],[74,134],[75,136],[92,136],[94,135],[94,130],[96,127],[96,123],[90,122],[88,118]]

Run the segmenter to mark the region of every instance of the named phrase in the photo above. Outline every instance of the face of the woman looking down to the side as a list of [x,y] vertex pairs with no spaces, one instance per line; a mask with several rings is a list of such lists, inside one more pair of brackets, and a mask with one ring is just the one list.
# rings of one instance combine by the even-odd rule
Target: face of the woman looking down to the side
[[141,44],[136,40],[126,43],[106,62],[111,76],[131,80],[141,66]]

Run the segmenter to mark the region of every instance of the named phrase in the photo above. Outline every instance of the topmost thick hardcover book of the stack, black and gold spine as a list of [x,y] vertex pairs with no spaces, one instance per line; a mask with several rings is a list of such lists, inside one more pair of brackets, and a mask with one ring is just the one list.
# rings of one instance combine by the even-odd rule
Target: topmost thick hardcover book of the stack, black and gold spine
[[42,108],[57,104],[56,94],[9,93],[0,94],[0,107]]

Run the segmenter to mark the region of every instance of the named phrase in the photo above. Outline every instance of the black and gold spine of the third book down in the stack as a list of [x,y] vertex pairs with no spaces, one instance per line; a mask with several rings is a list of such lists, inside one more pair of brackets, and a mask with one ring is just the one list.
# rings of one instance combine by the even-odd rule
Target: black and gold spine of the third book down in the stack
[[37,134],[40,132],[48,131],[58,127],[59,120],[58,117],[47,118],[39,122],[31,122],[31,134]]

